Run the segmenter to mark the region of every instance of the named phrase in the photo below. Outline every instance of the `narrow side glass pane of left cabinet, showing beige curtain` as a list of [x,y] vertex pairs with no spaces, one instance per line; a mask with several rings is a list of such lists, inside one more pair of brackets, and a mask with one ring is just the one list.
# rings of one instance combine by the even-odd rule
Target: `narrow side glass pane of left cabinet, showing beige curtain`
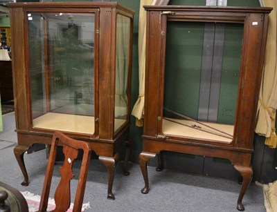
[[116,93],[115,93],[115,126],[116,131],[125,123],[128,113],[128,71],[129,71],[129,18],[123,15],[116,17]]

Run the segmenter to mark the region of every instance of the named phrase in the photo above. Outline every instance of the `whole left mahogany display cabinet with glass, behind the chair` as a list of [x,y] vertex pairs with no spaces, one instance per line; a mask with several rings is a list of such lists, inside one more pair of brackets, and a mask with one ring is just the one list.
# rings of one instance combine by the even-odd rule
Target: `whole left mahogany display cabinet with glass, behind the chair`
[[[134,11],[116,2],[9,3],[18,144],[24,153],[62,131],[89,143],[109,173],[129,157]],[[123,151],[124,152],[124,151]]]

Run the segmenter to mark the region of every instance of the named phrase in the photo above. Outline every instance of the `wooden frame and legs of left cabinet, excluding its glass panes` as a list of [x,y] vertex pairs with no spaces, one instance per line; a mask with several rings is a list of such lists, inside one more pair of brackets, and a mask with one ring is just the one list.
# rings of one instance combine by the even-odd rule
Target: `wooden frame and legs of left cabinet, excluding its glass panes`
[[[114,170],[119,159],[119,151],[126,147],[124,173],[127,172],[129,159],[129,116],[132,70],[132,28],[134,11],[120,3],[9,3],[12,30],[12,73],[15,95],[15,117],[18,144],[15,157],[28,185],[28,173],[24,164],[24,153],[35,143],[51,144],[54,130],[34,128],[30,100],[30,64],[28,56],[27,12],[75,12],[95,15],[95,131],[86,133],[64,132],[75,139],[88,142],[91,150],[107,166],[109,172],[108,198],[114,199],[112,184]],[[115,79],[116,79],[116,15],[123,15],[130,20],[129,28],[129,66],[128,66],[128,112],[125,123],[114,131],[115,119]],[[47,27],[47,26],[45,26]],[[47,46],[47,43],[45,43]],[[47,51],[44,52],[45,55]],[[47,57],[46,57],[47,59]],[[47,63],[46,63],[47,64]],[[46,77],[47,79],[47,77]],[[48,88],[46,88],[48,90]]]

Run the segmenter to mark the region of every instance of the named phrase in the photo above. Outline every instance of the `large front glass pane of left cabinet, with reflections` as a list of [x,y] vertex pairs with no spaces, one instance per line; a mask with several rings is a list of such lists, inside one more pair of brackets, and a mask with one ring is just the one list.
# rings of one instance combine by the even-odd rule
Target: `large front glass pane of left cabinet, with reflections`
[[93,134],[94,14],[27,17],[33,126]]

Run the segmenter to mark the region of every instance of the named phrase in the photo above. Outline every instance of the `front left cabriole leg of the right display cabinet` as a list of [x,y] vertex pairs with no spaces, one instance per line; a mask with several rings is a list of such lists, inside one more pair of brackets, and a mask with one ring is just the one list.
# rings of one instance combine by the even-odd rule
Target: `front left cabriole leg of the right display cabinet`
[[139,165],[141,166],[141,172],[143,173],[143,180],[145,182],[145,186],[141,189],[141,193],[148,193],[149,192],[149,180],[148,180],[148,170],[147,170],[147,162],[151,158],[155,157],[155,153],[145,153],[142,152],[139,155]]

